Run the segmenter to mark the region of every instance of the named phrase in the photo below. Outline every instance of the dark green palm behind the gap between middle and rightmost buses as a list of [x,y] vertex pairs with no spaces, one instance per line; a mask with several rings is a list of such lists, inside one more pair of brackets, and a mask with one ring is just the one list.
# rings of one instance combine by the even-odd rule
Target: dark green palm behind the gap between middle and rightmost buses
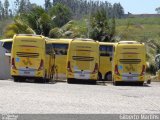
[[90,37],[98,41],[109,42],[115,34],[115,19],[108,19],[106,11],[102,8],[91,17]]

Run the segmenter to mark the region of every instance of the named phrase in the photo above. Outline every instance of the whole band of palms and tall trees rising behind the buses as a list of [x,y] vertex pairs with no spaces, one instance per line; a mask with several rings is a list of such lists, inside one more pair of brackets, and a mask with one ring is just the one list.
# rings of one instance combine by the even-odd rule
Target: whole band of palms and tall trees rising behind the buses
[[[2,2],[1,2],[2,3]],[[6,5],[5,5],[6,4]],[[6,6],[6,7],[4,7]],[[29,0],[15,0],[10,10],[5,0],[0,11],[4,18],[13,17],[4,32],[5,37],[14,34],[42,34],[48,37],[89,37],[99,41],[111,41],[115,34],[115,18],[123,18],[120,3],[92,0],[45,0],[44,6]],[[77,27],[77,20],[85,20],[85,28]]]

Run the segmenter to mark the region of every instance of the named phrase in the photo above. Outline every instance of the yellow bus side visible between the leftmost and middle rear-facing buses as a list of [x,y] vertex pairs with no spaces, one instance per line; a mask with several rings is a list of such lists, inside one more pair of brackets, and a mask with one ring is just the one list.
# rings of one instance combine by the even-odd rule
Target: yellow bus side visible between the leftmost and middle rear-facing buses
[[66,80],[67,68],[67,51],[68,44],[72,39],[50,39],[48,42],[52,44],[55,51],[55,79]]

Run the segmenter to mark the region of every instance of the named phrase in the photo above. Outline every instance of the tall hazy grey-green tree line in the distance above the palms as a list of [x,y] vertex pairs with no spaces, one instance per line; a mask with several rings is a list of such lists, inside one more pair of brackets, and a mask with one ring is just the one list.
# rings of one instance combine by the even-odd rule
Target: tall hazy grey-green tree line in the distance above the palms
[[[42,6],[46,12],[55,6],[57,3],[67,6],[73,19],[79,19],[86,15],[95,13],[98,9],[103,8],[108,17],[122,18],[124,16],[124,9],[120,3],[114,3],[113,5],[107,1],[92,1],[92,0],[45,0],[45,4]],[[0,19],[13,17],[19,13],[27,13],[31,8],[35,6],[30,0],[15,0],[11,8],[9,0],[0,0]]]

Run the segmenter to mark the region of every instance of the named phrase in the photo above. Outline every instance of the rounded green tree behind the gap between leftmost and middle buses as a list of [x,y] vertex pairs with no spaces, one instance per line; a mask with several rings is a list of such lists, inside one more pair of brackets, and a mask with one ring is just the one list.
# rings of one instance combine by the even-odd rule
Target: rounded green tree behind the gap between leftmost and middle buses
[[56,27],[62,27],[71,19],[70,9],[61,3],[57,3],[51,8],[50,15]]

